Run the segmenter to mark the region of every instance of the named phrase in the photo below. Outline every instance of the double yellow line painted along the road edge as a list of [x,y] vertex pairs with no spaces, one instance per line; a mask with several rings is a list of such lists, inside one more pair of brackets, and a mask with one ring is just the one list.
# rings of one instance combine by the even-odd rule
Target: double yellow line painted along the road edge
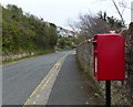
[[[37,90],[39,89],[44,89],[45,86],[48,85],[48,83],[50,82],[50,79],[53,77],[54,72],[57,69],[60,68],[60,65],[63,63],[63,61],[65,60],[68,55],[62,56],[55,64],[54,66],[50,69],[50,72],[48,73],[48,75],[41,81],[41,83],[37,86],[37,88],[33,90],[33,93],[30,95],[30,97],[28,98],[28,100],[24,103],[23,107],[27,107],[27,105],[29,104],[30,99],[34,96],[34,94],[37,93]],[[37,96],[39,97],[39,95]],[[35,103],[34,103],[35,104]]]

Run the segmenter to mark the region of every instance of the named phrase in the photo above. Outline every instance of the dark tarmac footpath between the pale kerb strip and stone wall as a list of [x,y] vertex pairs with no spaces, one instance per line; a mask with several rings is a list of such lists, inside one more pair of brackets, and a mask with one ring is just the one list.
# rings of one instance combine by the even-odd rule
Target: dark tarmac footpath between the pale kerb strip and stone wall
[[94,105],[84,84],[75,55],[69,55],[57,77],[48,105]]

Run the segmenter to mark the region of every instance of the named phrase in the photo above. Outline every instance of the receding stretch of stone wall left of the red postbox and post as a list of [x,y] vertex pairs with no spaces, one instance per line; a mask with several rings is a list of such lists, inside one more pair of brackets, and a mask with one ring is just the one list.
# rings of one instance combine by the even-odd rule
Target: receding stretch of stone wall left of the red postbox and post
[[[92,42],[86,41],[76,47],[76,58],[80,64],[80,67],[88,76],[88,81],[91,85],[93,85],[94,93],[96,97],[100,98],[101,105],[104,103],[104,82],[95,81],[93,76],[93,55],[92,55]],[[103,94],[101,94],[103,92]],[[95,96],[94,95],[94,96]]]

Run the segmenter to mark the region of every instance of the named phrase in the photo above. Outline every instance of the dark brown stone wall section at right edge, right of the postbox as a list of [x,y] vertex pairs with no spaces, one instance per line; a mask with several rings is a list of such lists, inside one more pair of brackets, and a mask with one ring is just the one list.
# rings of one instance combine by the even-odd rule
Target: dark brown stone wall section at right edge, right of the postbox
[[129,25],[129,30],[125,35],[125,72],[127,74],[125,87],[127,89],[129,100],[133,105],[133,22]]

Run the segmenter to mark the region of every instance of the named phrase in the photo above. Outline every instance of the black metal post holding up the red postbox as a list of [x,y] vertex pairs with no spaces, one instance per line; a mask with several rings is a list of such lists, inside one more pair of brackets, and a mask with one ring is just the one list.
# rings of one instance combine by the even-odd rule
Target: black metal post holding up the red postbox
[[111,107],[111,81],[105,81],[106,107]]

